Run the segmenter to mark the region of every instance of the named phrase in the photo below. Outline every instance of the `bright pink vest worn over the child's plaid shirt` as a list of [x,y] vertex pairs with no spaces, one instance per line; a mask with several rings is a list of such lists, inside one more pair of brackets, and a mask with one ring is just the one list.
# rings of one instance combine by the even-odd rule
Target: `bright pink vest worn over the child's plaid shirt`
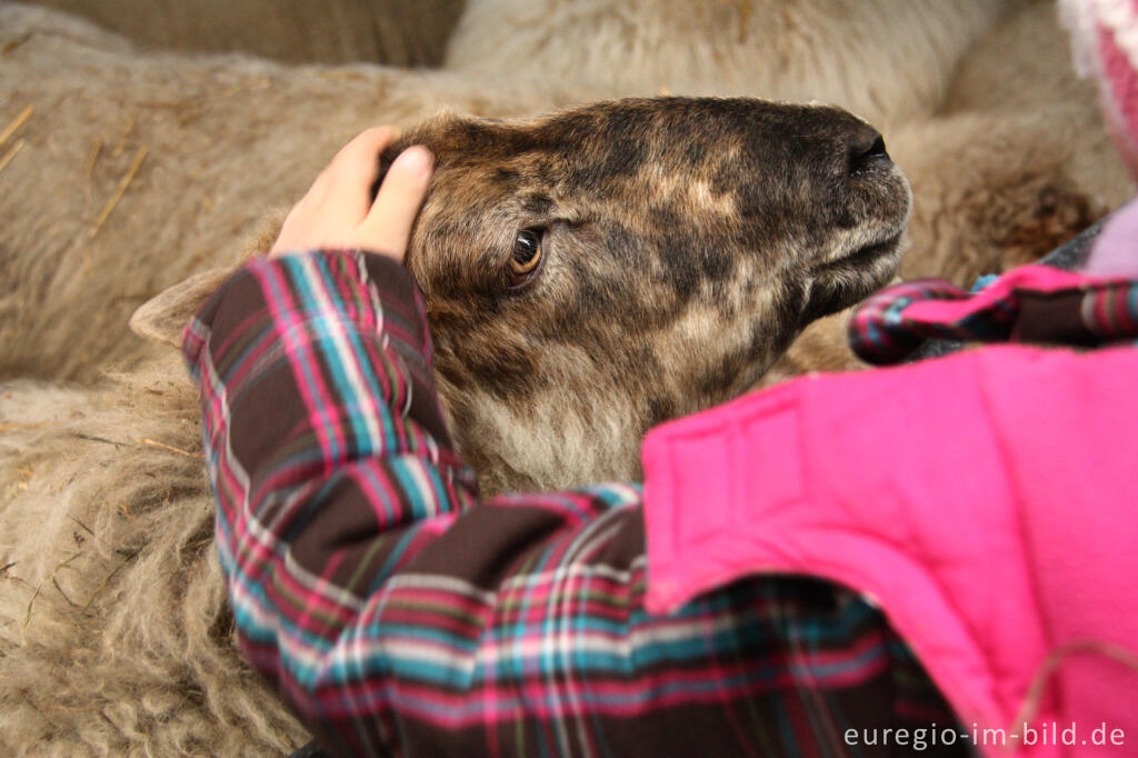
[[[967,731],[1016,735],[987,755],[1138,755],[1136,379],[1132,348],[991,347],[659,427],[649,609],[824,577],[881,607]],[[1072,724],[1077,744],[1040,744]]]

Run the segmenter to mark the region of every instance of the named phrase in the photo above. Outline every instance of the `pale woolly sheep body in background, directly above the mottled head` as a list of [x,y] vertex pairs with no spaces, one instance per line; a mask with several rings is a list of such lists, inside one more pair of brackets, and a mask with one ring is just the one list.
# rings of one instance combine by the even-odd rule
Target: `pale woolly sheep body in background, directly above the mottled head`
[[468,0],[445,66],[589,97],[823,100],[887,133],[935,113],[965,51],[1024,0]]

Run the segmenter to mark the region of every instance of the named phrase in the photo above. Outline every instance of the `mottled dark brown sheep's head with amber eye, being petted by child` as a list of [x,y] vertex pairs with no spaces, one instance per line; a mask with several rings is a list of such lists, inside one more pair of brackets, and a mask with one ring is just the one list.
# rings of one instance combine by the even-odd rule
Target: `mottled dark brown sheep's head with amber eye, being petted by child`
[[443,117],[407,266],[460,451],[498,489],[637,472],[659,421],[752,386],[892,275],[908,184],[846,112],[622,100]]

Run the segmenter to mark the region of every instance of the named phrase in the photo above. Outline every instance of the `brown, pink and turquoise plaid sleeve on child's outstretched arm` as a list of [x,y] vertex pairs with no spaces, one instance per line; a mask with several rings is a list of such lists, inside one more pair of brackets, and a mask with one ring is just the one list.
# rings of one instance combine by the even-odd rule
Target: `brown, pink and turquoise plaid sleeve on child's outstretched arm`
[[387,258],[255,259],[184,355],[238,643],[333,752],[884,755],[843,730],[954,723],[840,587],[766,577],[646,613],[637,486],[476,503]]

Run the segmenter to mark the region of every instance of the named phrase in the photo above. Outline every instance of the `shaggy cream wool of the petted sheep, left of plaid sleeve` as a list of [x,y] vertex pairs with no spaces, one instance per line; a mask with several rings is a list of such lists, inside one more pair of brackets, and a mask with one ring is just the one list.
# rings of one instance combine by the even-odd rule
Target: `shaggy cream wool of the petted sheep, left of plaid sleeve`
[[0,385],[3,755],[306,740],[231,643],[196,417],[174,360],[98,389]]

